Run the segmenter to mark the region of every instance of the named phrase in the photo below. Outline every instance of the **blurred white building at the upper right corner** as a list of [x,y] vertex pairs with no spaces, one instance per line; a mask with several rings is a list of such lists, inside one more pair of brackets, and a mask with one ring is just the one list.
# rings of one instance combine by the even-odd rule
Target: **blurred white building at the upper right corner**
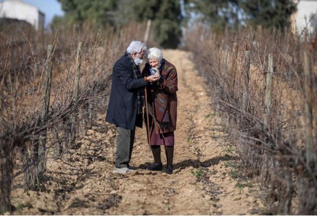
[[[309,33],[316,31],[317,0],[295,0],[294,2],[297,4],[297,12],[291,16],[292,31],[301,33],[305,27]],[[314,17],[311,19],[313,15]]]

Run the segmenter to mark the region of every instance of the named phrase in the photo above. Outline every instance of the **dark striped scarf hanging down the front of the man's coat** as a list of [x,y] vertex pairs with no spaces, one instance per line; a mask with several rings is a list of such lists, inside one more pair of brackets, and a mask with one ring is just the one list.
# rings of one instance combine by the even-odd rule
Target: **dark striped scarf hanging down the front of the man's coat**
[[[140,67],[134,63],[129,52],[125,52],[124,55],[128,59],[133,69],[133,74],[134,74],[133,78],[141,79],[142,75],[141,75]],[[142,107],[145,105],[144,89],[137,88],[136,94],[137,94],[137,101],[138,101],[138,114],[142,114]]]

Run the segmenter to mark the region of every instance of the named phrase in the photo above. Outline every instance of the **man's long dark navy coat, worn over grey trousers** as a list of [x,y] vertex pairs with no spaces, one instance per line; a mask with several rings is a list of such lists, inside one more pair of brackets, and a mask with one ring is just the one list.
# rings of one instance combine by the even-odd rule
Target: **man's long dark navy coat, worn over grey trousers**
[[[112,71],[111,95],[105,121],[116,126],[134,130],[142,127],[137,116],[137,88],[146,85],[143,79],[134,79],[133,69],[123,56],[114,65]],[[142,118],[142,115],[139,115]]]

